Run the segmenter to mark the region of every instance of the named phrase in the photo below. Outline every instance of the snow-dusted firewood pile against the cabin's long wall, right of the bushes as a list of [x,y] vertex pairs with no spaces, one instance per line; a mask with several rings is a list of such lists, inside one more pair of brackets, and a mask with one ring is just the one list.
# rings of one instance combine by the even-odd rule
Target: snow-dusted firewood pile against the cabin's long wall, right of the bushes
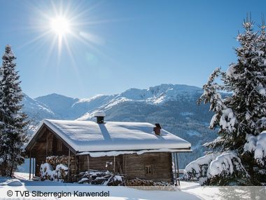
[[115,175],[110,171],[85,171],[78,175],[78,183],[90,185],[109,185],[118,186],[125,185],[123,175]]

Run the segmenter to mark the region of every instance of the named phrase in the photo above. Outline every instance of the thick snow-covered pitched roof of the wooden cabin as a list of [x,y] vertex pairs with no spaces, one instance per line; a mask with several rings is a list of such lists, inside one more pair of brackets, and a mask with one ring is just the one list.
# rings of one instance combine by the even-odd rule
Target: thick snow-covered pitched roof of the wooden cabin
[[184,149],[184,151],[189,151],[191,147],[189,142],[164,129],[161,130],[160,135],[155,135],[153,133],[155,126],[149,123],[106,121],[104,124],[97,124],[94,121],[44,119],[34,135],[39,132],[43,124],[76,152],[140,149]]

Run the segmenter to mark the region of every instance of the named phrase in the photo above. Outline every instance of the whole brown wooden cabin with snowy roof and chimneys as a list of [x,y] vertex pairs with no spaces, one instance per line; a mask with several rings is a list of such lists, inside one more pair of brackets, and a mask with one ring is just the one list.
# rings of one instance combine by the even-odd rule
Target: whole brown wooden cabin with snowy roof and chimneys
[[98,115],[97,122],[44,119],[26,147],[27,155],[35,160],[30,171],[34,168],[38,176],[46,157],[65,155],[69,182],[76,181],[73,177],[80,172],[107,167],[127,180],[173,183],[172,164],[178,168],[176,153],[191,152],[189,142],[159,124],[104,122],[104,114]]

